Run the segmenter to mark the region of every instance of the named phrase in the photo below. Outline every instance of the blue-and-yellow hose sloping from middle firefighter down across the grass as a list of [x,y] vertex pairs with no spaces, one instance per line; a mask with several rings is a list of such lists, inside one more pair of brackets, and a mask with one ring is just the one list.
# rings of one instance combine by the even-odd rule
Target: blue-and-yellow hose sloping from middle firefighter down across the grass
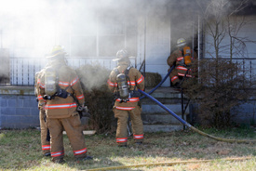
[[256,140],[248,140],[248,139],[228,139],[228,138],[218,138],[218,137],[214,137],[211,136],[205,132],[202,132],[198,129],[196,129],[193,125],[190,125],[189,123],[187,123],[186,121],[182,120],[182,118],[180,118],[177,114],[175,114],[174,112],[170,111],[165,105],[163,105],[160,101],[158,101],[157,99],[155,99],[154,97],[150,96],[149,94],[145,93],[144,91],[140,90],[141,94],[145,95],[147,98],[152,99],[153,101],[155,101],[155,103],[157,103],[161,108],[163,108],[165,111],[167,111],[168,113],[170,113],[172,116],[174,116],[177,120],[179,120],[182,125],[186,125],[187,127],[191,128],[192,130],[194,130],[195,132],[197,132],[198,134],[208,137],[208,138],[213,138],[215,140],[219,140],[219,141],[223,141],[223,142],[236,142],[236,143],[255,143]]

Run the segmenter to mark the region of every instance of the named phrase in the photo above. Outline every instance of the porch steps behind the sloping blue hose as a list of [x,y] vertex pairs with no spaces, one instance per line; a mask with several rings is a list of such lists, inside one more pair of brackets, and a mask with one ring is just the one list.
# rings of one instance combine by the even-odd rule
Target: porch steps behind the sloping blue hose
[[[149,92],[151,89],[152,88],[147,88],[146,92]],[[178,89],[159,87],[151,96],[182,118],[182,95]],[[184,99],[184,105],[186,103],[187,99]],[[183,125],[180,121],[162,109],[152,99],[141,99],[141,107],[144,132],[171,132],[183,129]],[[187,109],[184,113],[185,121],[188,114],[189,110]]]

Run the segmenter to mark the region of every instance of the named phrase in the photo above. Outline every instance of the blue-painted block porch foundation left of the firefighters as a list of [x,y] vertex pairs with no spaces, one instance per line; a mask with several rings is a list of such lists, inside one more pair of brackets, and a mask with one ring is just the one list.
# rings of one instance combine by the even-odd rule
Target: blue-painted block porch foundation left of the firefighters
[[[0,127],[28,128],[39,126],[39,111],[34,87],[13,90],[0,89]],[[12,94],[10,94],[12,93]]]

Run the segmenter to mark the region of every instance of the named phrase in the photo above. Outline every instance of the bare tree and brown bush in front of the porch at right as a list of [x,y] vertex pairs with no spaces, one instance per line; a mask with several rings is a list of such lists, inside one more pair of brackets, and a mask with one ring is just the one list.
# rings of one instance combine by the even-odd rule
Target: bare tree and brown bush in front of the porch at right
[[209,58],[200,59],[199,81],[195,74],[195,78],[183,86],[186,95],[199,105],[202,124],[222,127],[231,124],[231,109],[249,98],[247,90],[251,82],[236,59],[245,59],[247,43],[255,41],[239,34],[248,24],[245,17],[238,16],[247,7],[248,0],[208,2],[207,7],[202,7],[205,9],[202,16]]

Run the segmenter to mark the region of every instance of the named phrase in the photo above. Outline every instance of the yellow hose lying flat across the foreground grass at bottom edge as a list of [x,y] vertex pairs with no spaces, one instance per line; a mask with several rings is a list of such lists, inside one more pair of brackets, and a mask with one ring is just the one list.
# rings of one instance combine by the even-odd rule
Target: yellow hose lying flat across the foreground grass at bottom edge
[[[251,157],[241,157],[241,158],[228,158],[222,159],[222,161],[244,161],[249,160]],[[163,162],[163,163],[155,163],[155,164],[132,164],[132,165],[120,165],[120,166],[112,166],[112,167],[101,167],[101,168],[93,168],[88,169],[87,171],[98,171],[98,170],[120,170],[127,168],[138,168],[143,166],[161,166],[161,165],[175,165],[175,164],[198,164],[198,163],[209,163],[214,160],[198,160],[198,161],[178,161],[178,162]]]

